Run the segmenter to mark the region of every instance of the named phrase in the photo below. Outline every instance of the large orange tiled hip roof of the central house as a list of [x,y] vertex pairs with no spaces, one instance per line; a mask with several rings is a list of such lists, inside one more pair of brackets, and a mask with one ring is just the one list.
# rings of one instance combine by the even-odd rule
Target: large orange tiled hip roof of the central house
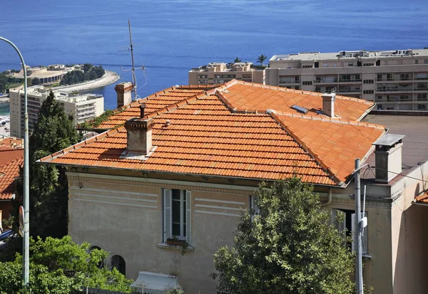
[[[146,160],[123,158],[121,126],[152,118],[153,149]],[[309,108],[306,115],[291,108]],[[360,122],[373,103],[338,96],[338,117],[322,114],[320,93],[233,80],[214,88],[175,86],[123,107],[100,126],[112,129],[56,152],[41,162],[178,174],[282,179],[342,186],[364,161],[382,125]]]

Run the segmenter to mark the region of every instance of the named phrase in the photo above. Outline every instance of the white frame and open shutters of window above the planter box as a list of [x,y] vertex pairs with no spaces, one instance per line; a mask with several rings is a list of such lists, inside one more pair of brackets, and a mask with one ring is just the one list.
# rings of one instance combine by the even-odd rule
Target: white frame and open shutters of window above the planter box
[[[191,242],[191,191],[177,189],[180,191],[180,236],[175,236],[176,238],[186,241],[188,244]],[[181,213],[184,209],[184,200],[185,200],[185,220],[183,219],[183,214]],[[184,223],[185,221],[185,223]],[[185,236],[183,231],[185,226]],[[163,243],[165,243],[168,238],[173,238],[173,189],[163,189]]]

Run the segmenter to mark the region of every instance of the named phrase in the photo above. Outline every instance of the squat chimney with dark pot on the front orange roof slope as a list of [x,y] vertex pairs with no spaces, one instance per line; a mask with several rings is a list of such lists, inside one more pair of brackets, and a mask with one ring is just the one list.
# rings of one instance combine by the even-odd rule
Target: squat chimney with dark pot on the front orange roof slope
[[153,120],[143,119],[145,104],[140,106],[140,116],[125,122],[128,153],[147,155],[152,149]]

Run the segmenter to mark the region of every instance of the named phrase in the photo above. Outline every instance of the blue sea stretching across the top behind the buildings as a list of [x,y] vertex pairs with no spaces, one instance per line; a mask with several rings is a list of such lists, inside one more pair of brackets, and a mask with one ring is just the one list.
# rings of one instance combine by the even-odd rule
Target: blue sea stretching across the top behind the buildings
[[[0,2],[0,36],[27,65],[93,63],[131,80],[131,19],[138,94],[188,83],[188,70],[236,57],[301,51],[389,50],[428,46],[426,0],[73,0]],[[0,70],[19,68],[0,42]],[[114,85],[91,90],[116,107]]]

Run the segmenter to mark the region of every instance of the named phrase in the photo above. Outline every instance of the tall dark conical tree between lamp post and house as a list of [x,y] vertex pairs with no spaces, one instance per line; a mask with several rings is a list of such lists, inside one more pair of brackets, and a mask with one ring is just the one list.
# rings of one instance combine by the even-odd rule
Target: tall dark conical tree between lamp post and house
[[[67,233],[66,170],[64,167],[37,164],[36,161],[76,144],[80,139],[81,136],[73,124],[73,117],[66,115],[63,107],[54,99],[54,93],[49,93],[41,105],[39,121],[34,126],[29,140],[32,236],[62,237]],[[19,190],[22,191],[22,186]]]

